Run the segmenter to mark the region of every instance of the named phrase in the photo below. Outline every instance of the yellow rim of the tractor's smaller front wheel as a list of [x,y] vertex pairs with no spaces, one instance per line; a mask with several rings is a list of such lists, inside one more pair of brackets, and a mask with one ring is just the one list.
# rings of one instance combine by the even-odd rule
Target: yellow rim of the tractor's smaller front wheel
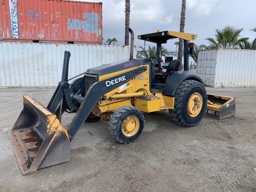
[[122,124],[122,132],[126,137],[134,136],[139,130],[139,119],[135,116],[127,117]]

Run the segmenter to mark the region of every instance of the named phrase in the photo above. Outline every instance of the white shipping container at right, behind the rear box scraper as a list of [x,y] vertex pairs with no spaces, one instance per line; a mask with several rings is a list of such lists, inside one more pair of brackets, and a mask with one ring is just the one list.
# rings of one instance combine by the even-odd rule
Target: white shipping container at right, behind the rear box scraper
[[199,51],[197,73],[210,87],[255,87],[256,50]]

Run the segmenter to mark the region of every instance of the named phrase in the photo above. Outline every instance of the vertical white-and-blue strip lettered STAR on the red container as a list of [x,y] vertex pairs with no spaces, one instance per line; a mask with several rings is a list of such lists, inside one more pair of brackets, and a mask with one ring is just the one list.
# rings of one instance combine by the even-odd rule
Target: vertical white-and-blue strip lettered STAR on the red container
[[10,8],[12,38],[18,39],[19,38],[19,28],[18,28],[18,3],[17,3],[17,0],[10,0],[9,8]]

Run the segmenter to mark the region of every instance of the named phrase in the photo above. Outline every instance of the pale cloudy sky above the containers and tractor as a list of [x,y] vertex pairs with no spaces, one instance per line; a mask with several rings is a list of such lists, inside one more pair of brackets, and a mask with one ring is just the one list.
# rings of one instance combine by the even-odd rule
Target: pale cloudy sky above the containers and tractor
[[[76,0],[77,1],[77,0]],[[81,0],[82,1],[82,0]],[[118,40],[115,45],[124,45],[124,0],[89,0],[87,2],[102,2],[103,44],[108,38]],[[135,33],[137,47],[144,47],[144,41],[137,39],[138,35],[160,31],[179,31],[181,0],[130,0],[130,28]],[[215,38],[215,30],[227,25],[243,28],[242,37],[252,41],[256,33],[250,29],[256,27],[255,0],[186,0],[186,15],[184,32],[196,33],[197,45],[209,45],[207,37]],[[162,45],[168,51],[176,51],[174,42],[168,40]],[[146,42],[153,46],[151,42]],[[140,50],[137,48],[137,50]]]

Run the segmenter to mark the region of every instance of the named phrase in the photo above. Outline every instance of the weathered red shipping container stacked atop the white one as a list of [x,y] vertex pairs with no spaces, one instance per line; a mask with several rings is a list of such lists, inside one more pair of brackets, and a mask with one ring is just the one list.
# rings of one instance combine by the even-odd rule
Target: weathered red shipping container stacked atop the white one
[[1,0],[0,40],[102,44],[102,3]]

